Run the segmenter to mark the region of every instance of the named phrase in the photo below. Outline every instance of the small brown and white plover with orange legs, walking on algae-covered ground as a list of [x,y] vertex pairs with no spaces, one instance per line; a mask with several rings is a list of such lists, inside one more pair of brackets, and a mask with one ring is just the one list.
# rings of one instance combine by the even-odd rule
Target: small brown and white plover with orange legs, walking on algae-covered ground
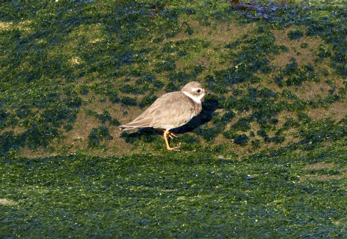
[[[166,93],[156,99],[151,106],[130,123],[118,126],[121,130],[152,127],[164,132],[166,148],[179,151],[177,147],[170,147],[167,136],[178,138],[170,130],[188,123],[201,110],[201,99],[209,94],[205,92],[200,82],[189,82],[181,91]],[[173,136],[173,137],[172,137]]]

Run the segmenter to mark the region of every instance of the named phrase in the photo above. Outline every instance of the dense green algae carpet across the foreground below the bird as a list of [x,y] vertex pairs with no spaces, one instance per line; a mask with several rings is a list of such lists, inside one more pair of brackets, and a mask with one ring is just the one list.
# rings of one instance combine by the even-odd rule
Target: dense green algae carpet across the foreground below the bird
[[[324,155],[320,162],[335,158],[325,153],[316,151]],[[15,205],[2,206],[1,233],[124,238],[346,233],[346,180],[302,180],[312,174],[302,170],[310,158],[290,152],[242,161],[212,157],[205,151],[179,160],[169,154],[5,160],[1,187]]]

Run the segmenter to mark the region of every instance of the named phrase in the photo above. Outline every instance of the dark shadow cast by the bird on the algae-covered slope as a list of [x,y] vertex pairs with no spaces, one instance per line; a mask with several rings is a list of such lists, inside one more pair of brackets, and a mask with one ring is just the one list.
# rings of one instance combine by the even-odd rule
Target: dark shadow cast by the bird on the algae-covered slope
[[[196,128],[200,127],[201,125],[204,125],[205,123],[209,122],[212,119],[213,112],[216,111],[219,108],[219,104],[217,100],[205,100],[202,102],[202,111],[200,114],[195,116],[191,121],[189,121],[186,125],[181,126],[176,129],[172,129],[172,133],[177,134],[183,134],[194,131]],[[137,132],[134,133],[126,133],[123,132],[120,137],[121,138],[127,138],[126,141],[132,141],[130,138],[139,137],[142,135],[162,135],[163,132],[160,130],[153,130],[152,128],[139,128]]]

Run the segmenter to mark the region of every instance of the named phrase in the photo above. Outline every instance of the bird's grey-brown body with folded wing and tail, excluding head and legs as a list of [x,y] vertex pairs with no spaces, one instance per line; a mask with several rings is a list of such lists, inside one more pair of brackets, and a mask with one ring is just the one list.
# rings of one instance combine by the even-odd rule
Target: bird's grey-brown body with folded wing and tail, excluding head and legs
[[174,129],[185,125],[200,111],[201,104],[199,107],[182,92],[171,92],[160,96],[140,116],[119,128],[124,130],[142,127]]

